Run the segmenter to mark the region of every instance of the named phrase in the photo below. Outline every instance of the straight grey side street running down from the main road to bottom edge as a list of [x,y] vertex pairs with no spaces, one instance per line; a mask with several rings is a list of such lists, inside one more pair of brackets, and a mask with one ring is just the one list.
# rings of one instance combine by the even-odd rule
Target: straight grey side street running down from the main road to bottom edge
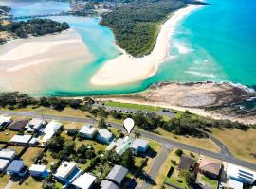
[[[163,146],[162,150],[159,153],[157,153],[157,156],[154,160],[154,165],[152,166],[152,168],[150,169],[150,171],[148,173],[151,180],[156,179],[157,174],[159,173],[159,170],[160,170],[162,164],[166,161],[171,149],[172,149],[171,146]],[[137,186],[137,188],[147,189],[150,186],[152,186],[152,184],[143,181],[142,185]]]

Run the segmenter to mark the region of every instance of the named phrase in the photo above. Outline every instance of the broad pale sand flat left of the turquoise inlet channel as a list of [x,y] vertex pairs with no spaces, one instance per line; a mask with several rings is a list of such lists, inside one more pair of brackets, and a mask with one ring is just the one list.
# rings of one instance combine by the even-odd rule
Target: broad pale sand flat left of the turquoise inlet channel
[[50,86],[46,80],[50,80],[47,74],[51,70],[62,68],[71,72],[92,59],[74,29],[61,34],[9,41],[0,46],[0,91],[43,91]]

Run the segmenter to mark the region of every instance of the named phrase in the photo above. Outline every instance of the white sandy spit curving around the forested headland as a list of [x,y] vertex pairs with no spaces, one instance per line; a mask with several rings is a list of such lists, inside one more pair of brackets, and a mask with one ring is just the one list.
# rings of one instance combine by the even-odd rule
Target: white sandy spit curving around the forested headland
[[190,5],[174,12],[160,29],[152,53],[142,58],[134,58],[123,50],[122,55],[104,63],[101,69],[91,78],[94,85],[119,85],[143,80],[151,77],[157,71],[158,65],[167,59],[169,38],[174,32],[175,25],[198,5]]

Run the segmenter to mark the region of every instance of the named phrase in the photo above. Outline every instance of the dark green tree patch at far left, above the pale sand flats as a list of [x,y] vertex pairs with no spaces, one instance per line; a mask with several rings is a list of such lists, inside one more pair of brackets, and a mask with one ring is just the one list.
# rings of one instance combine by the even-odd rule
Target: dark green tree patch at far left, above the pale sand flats
[[6,31],[13,37],[27,38],[28,36],[41,36],[49,33],[61,32],[69,28],[67,23],[59,23],[50,19],[32,19],[19,22],[0,24],[0,31]]

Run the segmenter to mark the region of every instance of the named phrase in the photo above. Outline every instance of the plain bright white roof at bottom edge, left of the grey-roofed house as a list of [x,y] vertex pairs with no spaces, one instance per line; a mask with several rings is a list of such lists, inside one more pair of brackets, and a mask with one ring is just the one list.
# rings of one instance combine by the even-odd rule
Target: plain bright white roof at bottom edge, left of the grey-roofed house
[[94,180],[96,180],[96,177],[88,173],[84,173],[79,178],[74,180],[72,184],[82,189],[89,189],[93,184]]

